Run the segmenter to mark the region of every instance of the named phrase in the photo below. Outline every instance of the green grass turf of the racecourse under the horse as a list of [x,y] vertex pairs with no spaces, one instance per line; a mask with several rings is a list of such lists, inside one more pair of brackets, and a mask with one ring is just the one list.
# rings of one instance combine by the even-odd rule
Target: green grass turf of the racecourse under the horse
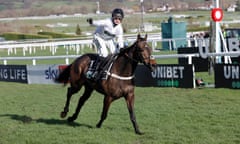
[[[102,128],[103,96],[93,93],[78,119],[59,117],[66,88],[0,82],[1,144],[238,144],[239,90],[141,88],[135,90],[140,129],[135,135],[124,99],[115,101]],[[71,115],[79,95],[71,101]]]

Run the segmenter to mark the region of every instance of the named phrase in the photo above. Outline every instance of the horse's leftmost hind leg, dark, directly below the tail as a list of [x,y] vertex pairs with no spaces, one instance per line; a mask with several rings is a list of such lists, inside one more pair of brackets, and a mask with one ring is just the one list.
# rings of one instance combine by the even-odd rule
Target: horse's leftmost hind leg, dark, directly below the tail
[[67,100],[66,100],[64,109],[60,114],[61,118],[65,118],[67,116],[67,113],[69,111],[69,104],[70,104],[71,97],[74,93],[77,93],[78,91],[79,91],[79,88],[74,88],[74,87],[69,87],[68,88],[68,90],[67,90]]

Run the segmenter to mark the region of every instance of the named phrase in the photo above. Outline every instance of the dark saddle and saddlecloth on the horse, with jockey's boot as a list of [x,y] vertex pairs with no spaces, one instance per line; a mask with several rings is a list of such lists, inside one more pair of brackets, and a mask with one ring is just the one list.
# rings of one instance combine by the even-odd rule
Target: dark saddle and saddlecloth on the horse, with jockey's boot
[[116,57],[117,55],[109,55],[106,58],[97,56],[96,59],[92,59],[85,74],[86,78],[91,81],[108,79],[107,72],[111,70]]

